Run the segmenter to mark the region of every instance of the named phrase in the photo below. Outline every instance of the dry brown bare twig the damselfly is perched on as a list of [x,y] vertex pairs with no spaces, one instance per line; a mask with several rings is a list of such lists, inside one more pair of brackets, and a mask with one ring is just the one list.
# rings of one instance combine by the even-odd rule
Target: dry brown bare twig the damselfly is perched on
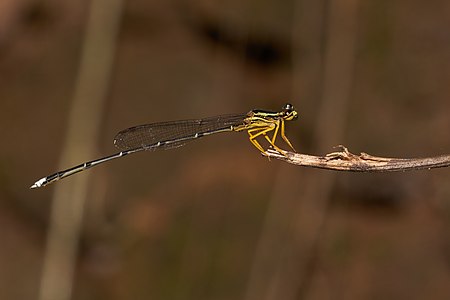
[[290,164],[320,169],[351,172],[391,172],[434,169],[450,166],[450,155],[425,158],[387,158],[372,156],[362,152],[353,154],[342,145],[340,151],[325,156],[314,156],[285,151],[280,153],[269,149],[264,152],[269,158],[275,158]]

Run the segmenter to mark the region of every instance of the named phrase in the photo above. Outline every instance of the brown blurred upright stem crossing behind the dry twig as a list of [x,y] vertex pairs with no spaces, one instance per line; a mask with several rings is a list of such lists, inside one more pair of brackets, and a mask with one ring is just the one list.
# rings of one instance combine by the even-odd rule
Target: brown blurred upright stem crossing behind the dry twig
[[[354,82],[359,0],[328,0],[325,27],[322,97],[315,124],[314,151],[326,152],[344,143],[347,116]],[[336,173],[314,172],[305,178],[301,214],[295,219],[293,233],[304,241],[294,245],[302,272],[295,287],[295,298],[307,299],[317,278],[320,247],[323,244],[329,204]],[[308,218],[309,216],[309,218]],[[297,241],[298,242],[298,241]],[[328,290],[328,289],[327,289]],[[316,291],[317,292],[317,291]],[[333,298],[334,292],[328,290]]]

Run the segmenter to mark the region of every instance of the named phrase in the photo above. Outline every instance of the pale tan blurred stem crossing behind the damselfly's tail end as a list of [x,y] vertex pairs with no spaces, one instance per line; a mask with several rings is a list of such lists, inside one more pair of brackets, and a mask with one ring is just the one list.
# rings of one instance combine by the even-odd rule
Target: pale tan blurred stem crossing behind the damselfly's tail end
[[[92,158],[96,153],[121,12],[122,0],[90,2],[60,168]],[[86,172],[55,185],[40,300],[71,298],[88,184]]]

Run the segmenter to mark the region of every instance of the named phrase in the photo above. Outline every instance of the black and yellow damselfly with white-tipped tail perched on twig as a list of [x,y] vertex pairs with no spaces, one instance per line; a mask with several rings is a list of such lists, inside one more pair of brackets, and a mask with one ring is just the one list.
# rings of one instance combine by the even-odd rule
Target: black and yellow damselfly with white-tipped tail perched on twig
[[[284,122],[296,119],[297,115],[294,106],[288,103],[279,112],[255,109],[247,114],[221,115],[204,119],[159,122],[131,127],[119,132],[114,138],[114,145],[121,152],[56,172],[39,179],[31,188],[45,186],[128,154],[144,150],[177,148],[189,141],[219,132],[247,131],[250,142],[261,153],[264,153],[265,150],[257,141],[259,137],[264,137],[271,147],[283,153],[283,150],[275,144],[276,138],[280,134],[289,147],[294,150],[286,137]],[[269,134],[272,135],[269,136]]]

